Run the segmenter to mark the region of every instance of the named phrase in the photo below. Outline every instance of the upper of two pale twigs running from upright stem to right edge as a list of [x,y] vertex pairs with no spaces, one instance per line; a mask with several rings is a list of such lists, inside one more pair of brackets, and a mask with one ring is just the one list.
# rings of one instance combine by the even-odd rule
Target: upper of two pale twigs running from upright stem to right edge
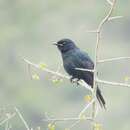
[[120,61],[120,60],[130,60],[130,57],[115,57],[110,59],[104,59],[104,60],[99,60],[98,63],[113,62],[113,61]]

